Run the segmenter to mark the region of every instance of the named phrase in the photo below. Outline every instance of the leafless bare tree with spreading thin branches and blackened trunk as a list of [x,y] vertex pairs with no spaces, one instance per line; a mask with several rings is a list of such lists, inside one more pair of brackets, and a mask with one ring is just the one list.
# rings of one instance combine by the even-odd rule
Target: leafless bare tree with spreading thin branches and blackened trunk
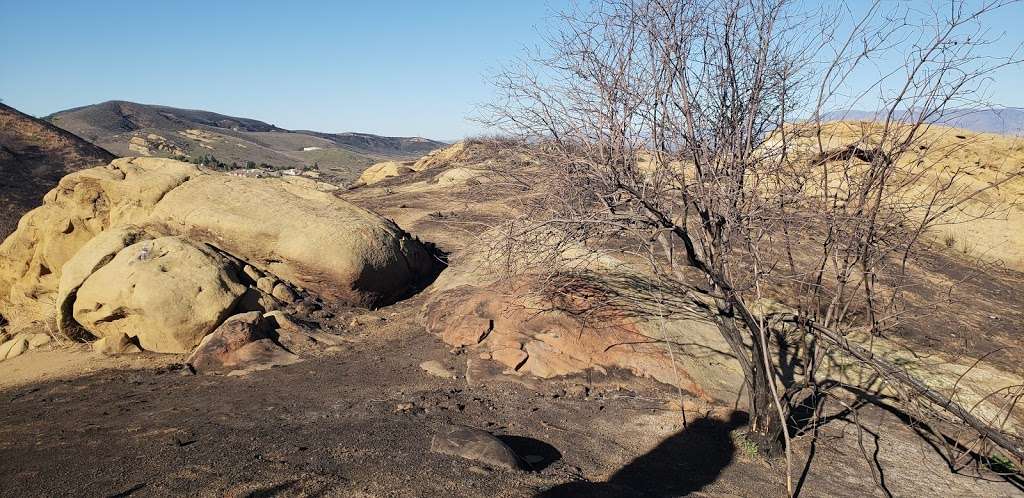
[[[925,399],[1024,457],[844,337],[894,330],[922,239],[991,214],[985,193],[1020,174],[976,186],[970,165],[936,171],[950,147],[927,133],[1018,61],[978,50],[990,42],[979,19],[1010,3],[826,13],[790,0],[601,0],[564,13],[547,49],[499,76],[502,98],[486,110],[546,168],[523,181],[531,196],[503,229],[503,250],[553,272],[568,247],[614,251],[672,288],[698,289],[687,302],[717,318],[766,444],[788,447],[788,409],[816,388],[824,342],[900,399]],[[883,110],[878,123],[824,120],[865,102]],[[758,310],[769,301],[785,312]],[[802,344],[804,379],[780,385],[770,351],[787,336]]]

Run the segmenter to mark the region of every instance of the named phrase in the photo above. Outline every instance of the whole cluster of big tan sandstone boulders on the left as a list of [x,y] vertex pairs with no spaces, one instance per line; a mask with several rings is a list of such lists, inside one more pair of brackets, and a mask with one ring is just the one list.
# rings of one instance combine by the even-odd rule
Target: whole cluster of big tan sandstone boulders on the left
[[118,159],[66,176],[0,245],[0,314],[11,331],[52,324],[110,351],[180,354],[223,344],[211,333],[239,314],[393,302],[434,266],[424,244],[330,193]]

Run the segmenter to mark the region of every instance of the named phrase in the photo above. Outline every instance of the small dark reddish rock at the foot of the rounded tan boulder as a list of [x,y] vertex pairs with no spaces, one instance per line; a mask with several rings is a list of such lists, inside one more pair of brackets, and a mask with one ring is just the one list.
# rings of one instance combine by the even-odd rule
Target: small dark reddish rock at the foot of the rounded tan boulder
[[206,336],[187,363],[199,373],[244,373],[298,362],[271,339],[270,325],[259,312],[236,315]]

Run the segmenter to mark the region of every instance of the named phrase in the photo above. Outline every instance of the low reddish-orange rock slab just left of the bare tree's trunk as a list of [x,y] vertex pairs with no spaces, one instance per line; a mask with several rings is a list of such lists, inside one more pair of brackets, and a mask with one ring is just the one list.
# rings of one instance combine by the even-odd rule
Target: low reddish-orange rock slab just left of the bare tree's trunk
[[549,379],[622,369],[708,401],[734,400],[742,384],[738,365],[710,321],[588,322],[536,300],[528,290],[501,292],[485,279],[473,285],[459,269],[449,272],[424,305],[425,325],[445,343],[479,354],[474,362],[496,365],[480,371]]

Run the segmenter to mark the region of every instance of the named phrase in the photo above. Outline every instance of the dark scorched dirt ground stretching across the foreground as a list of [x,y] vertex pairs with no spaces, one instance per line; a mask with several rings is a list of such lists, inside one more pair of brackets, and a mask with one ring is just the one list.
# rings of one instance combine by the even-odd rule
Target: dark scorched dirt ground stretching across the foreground
[[[331,331],[348,345],[245,377],[193,375],[175,356],[100,366],[67,346],[0,364],[0,496],[784,495],[782,460],[744,443],[741,413],[687,399],[684,426],[672,389],[613,375],[467,382],[466,355],[417,323],[421,301],[343,312]],[[95,370],[24,369],[61,356]],[[460,377],[429,376],[425,360]],[[879,496],[872,469],[896,496],[1020,493],[949,472],[885,410],[857,416],[868,431],[839,414],[813,445],[798,439],[801,496]],[[431,453],[450,422],[541,460],[505,471]]]

